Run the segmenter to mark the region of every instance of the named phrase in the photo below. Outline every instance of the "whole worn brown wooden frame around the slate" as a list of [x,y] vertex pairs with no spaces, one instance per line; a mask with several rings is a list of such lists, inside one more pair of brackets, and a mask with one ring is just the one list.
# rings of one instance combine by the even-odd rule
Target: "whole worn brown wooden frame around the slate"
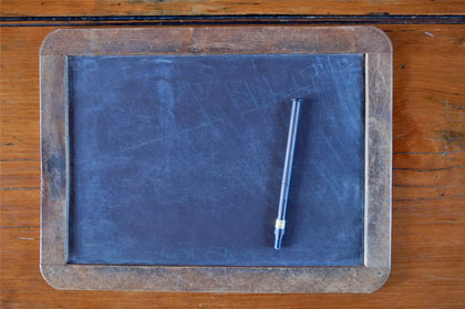
[[[364,266],[199,267],[68,264],[68,56],[363,53],[365,56]],[[391,267],[392,47],[372,27],[62,29],[40,51],[41,258],[56,289],[213,292],[372,292]]]

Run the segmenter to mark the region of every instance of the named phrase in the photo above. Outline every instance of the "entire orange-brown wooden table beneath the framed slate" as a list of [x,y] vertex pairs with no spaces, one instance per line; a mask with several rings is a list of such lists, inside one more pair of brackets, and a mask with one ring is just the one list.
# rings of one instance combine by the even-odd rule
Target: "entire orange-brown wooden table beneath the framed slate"
[[[465,307],[463,1],[3,0],[0,11],[2,308]],[[45,284],[39,270],[40,44],[56,28],[159,23],[363,23],[388,33],[394,48],[393,234],[383,288],[372,295],[221,295],[58,291]]]

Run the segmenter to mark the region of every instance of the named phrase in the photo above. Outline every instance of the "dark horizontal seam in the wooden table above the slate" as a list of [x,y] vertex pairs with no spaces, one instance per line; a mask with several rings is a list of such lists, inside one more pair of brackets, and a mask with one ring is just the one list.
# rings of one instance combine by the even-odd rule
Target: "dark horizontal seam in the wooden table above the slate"
[[[206,25],[206,24],[465,24],[465,16],[90,16],[0,17],[0,27]],[[51,23],[49,23],[51,22]]]

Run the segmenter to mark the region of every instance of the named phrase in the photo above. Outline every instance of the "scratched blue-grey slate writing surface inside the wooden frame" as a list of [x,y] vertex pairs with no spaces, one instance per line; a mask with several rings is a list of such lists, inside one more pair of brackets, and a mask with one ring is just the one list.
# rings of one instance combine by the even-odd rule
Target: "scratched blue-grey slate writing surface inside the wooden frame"
[[69,56],[69,261],[363,265],[363,72],[362,54]]

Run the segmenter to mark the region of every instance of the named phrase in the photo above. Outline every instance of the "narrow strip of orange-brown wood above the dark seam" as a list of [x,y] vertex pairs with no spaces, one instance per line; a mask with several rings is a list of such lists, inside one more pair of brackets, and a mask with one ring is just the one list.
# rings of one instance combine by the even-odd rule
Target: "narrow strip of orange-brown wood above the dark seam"
[[3,0],[2,17],[208,14],[463,14],[462,0]]

